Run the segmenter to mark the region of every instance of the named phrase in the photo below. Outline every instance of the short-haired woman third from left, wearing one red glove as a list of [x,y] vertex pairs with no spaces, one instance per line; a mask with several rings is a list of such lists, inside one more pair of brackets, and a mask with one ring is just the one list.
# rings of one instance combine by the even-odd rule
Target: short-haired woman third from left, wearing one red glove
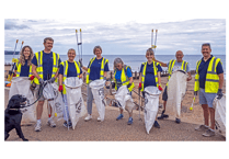
[[[82,70],[80,68],[80,64],[78,61],[75,60],[75,57],[76,57],[76,50],[73,48],[70,48],[68,50],[68,60],[66,61],[62,61],[60,63],[60,68],[59,68],[59,76],[58,76],[58,82],[59,82],[59,92],[62,92],[62,96],[65,98],[65,101],[66,101],[66,105],[68,105],[67,103],[67,92],[66,92],[66,88],[65,88],[65,80],[69,77],[79,77],[79,78],[82,78]],[[64,126],[65,127],[71,127],[72,124],[71,124],[71,121],[70,121],[70,117],[69,117],[69,112],[68,110],[69,109],[66,109],[67,110],[67,116],[66,114],[64,114],[64,120],[65,120],[65,123],[64,123]]]

